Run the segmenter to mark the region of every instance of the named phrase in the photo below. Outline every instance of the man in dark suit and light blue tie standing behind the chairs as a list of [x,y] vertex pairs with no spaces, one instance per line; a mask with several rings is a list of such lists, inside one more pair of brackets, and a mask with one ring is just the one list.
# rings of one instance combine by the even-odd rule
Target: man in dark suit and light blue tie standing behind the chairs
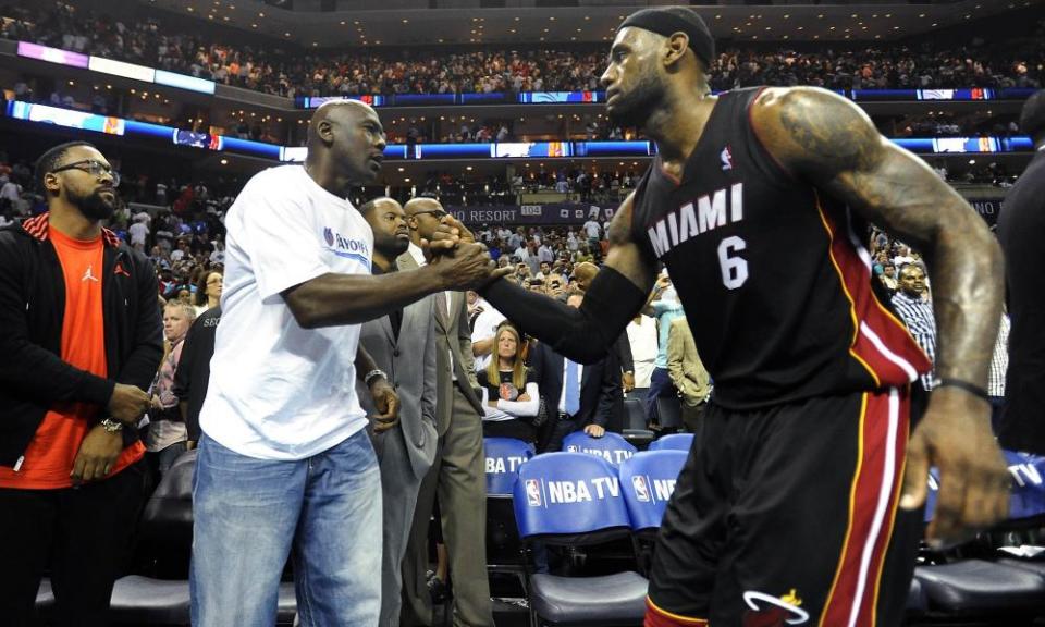
[[[570,294],[566,304],[580,307],[585,295]],[[614,405],[622,396],[620,367],[611,354],[597,364],[583,366],[564,358],[548,344],[538,344],[531,360],[538,372],[538,386],[544,397],[549,428],[539,442],[540,452],[558,451],[563,439],[583,429],[592,438],[602,438]]]

